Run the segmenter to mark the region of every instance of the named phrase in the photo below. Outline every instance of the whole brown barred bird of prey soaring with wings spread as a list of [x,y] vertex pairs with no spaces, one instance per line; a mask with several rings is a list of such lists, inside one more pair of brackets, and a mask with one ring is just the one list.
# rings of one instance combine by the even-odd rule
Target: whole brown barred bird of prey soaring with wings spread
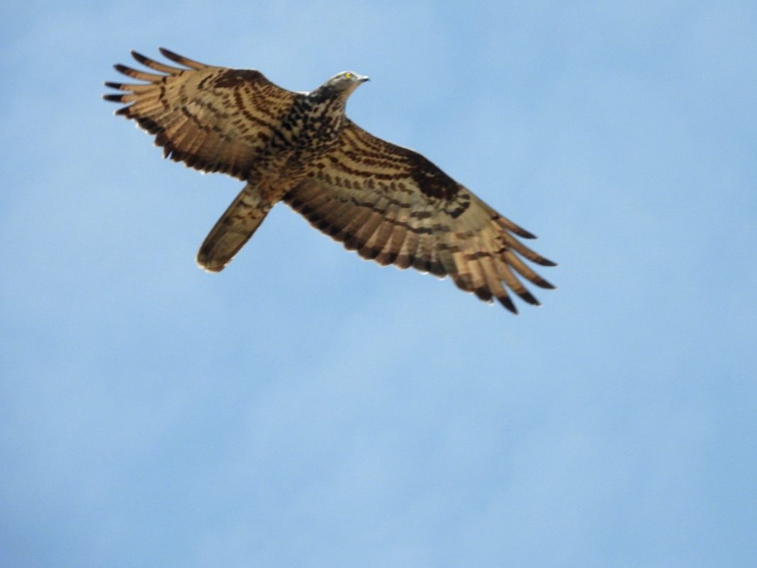
[[344,71],[313,91],[293,92],[257,70],[160,52],[179,67],[132,51],[151,72],[115,65],[141,83],[105,83],[121,93],[104,98],[127,103],[116,114],[154,134],[164,157],[246,183],[200,247],[197,262],[205,270],[223,270],[284,201],[363,258],[450,276],[460,289],[497,298],[513,313],[508,290],[539,304],[518,275],[554,287],[522,260],[555,265],[516,239],[534,235],[418,152],[347,118],[347,98],[367,76]]

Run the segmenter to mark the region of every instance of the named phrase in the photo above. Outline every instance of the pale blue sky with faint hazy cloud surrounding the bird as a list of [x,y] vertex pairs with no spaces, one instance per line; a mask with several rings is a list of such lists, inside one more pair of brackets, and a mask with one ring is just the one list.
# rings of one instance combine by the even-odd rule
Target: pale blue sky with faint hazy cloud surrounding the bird
[[[0,565],[757,565],[754,2],[6,2]],[[348,105],[540,236],[521,315],[101,101],[157,46]]]

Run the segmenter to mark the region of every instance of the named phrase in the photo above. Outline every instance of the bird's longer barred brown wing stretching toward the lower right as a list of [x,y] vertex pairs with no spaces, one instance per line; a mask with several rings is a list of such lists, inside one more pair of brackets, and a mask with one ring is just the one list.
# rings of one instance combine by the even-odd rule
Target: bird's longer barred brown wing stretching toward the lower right
[[459,288],[484,301],[497,298],[513,313],[506,289],[539,304],[516,273],[541,288],[554,287],[522,261],[554,266],[514,235],[534,236],[421,154],[350,122],[340,144],[315,166],[285,201],[363,258],[449,275]]

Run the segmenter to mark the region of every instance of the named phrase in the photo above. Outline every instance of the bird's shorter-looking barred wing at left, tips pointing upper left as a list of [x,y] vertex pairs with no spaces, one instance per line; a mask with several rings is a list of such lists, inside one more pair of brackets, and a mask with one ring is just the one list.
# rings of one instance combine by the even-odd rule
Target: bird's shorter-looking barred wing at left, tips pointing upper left
[[274,85],[257,70],[213,67],[164,48],[160,52],[182,67],[132,51],[137,61],[158,73],[115,65],[120,73],[146,83],[105,83],[126,94],[104,98],[131,103],[116,114],[156,135],[164,156],[198,170],[247,179],[297,93]]

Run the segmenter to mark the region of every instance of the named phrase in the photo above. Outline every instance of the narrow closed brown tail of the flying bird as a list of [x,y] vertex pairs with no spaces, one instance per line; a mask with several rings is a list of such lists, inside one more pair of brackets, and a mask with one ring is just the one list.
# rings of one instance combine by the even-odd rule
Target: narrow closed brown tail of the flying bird
[[248,183],[205,237],[197,253],[197,264],[211,272],[223,270],[250,240],[272,207],[273,203],[266,199],[260,186]]

